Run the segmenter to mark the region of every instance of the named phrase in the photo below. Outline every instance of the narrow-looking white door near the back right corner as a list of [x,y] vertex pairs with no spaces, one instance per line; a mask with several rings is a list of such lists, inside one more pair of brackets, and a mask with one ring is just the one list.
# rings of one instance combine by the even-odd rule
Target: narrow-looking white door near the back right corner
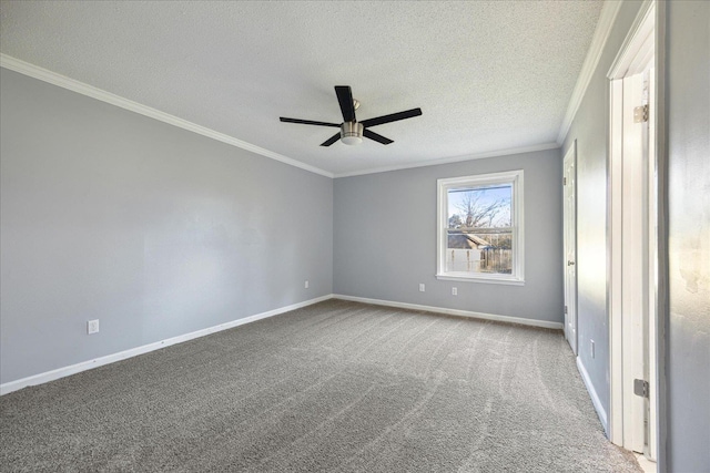
[[577,140],[567,151],[564,166],[565,337],[577,354]]

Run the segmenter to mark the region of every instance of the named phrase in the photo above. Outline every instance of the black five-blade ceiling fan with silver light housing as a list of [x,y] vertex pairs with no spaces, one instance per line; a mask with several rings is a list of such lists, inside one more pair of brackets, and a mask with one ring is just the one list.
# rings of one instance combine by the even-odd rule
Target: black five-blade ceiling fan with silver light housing
[[392,140],[373,132],[369,127],[422,115],[422,109],[412,109],[358,122],[355,117],[355,111],[359,106],[359,102],[353,100],[351,86],[336,85],[335,94],[337,95],[337,102],[341,104],[341,112],[343,112],[343,123],[314,122],[313,120],[286,119],[284,116],[281,116],[280,120],[286,123],[301,123],[303,125],[333,126],[341,128],[338,133],[321,143],[321,146],[331,146],[338,140],[349,145],[359,144],[363,142],[363,136],[382,144],[394,143]]

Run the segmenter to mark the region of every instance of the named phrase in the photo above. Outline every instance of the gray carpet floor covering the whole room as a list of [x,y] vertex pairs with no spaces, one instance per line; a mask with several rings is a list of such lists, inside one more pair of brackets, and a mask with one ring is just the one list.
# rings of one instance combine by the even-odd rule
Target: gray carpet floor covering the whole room
[[0,398],[0,470],[638,472],[561,332],[328,300]]

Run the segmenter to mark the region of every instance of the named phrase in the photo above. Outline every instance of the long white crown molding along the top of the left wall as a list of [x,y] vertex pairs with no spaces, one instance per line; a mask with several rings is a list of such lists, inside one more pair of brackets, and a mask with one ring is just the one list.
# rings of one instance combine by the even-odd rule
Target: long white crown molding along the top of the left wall
[[82,95],[87,95],[92,99],[97,99],[102,102],[110,103],[111,105],[115,105],[121,109],[129,110],[131,112],[135,112],[144,116],[149,116],[151,119],[161,121],[163,123],[168,123],[170,125],[178,126],[180,128],[187,130],[193,133],[197,133],[209,138],[216,140],[232,146],[236,146],[239,148],[248,151],[251,153],[260,154],[271,160],[275,160],[281,163],[288,164],[290,166],[298,167],[301,169],[320,174],[322,176],[326,176],[331,178],[334,177],[333,173],[321,169],[320,167],[311,166],[308,164],[293,160],[288,156],[284,156],[283,154],[278,154],[273,151],[265,150],[263,147],[253,145],[242,140],[237,140],[234,136],[215,132],[214,130],[207,128],[205,126],[197,125],[195,123],[189,122],[186,120],[180,119],[169,113],[161,112],[160,110],[155,110],[150,106],[142,105],[138,102],[133,102],[132,100],[128,100],[122,96],[112,94],[111,92],[97,89],[92,85],[84,84],[83,82],[79,82],[74,79],[67,78],[65,75],[58,74],[55,72],[49,71],[47,69],[40,68],[34,64],[30,64],[29,62],[21,61],[19,59],[12,58],[7,54],[0,53],[0,66],[18,72],[20,74],[28,75],[30,78],[38,79],[43,82],[48,82],[53,85],[70,90],[72,92],[77,92]]

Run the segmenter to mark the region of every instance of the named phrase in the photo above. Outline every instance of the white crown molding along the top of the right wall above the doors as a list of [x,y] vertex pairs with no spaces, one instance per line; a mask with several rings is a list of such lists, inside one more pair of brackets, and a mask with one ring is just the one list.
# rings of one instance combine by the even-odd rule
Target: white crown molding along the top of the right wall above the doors
[[609,39],[609,34],[611,33],[611,28],[613,28],[613,23],[617,19],[617,14],[619,13],[619,9],[621,8],[621,0],[605,0],[604,6],[601,7],[601,13],[599,14],[599,21],[597,22],[595,35],[591,39],[591,44],[589,45],[587,58],[585,58],[581,71],[579,72],[579,76],[577,78],[577,84],[575,85],[575,90],[572,91],[572,96],[569,99],[567,113],[565,114],[562,124],[559,127],[559,133],[557,135],[558,145],[561,145],[565,142],[565,137],[567,136],[569,127],[575,120],[575,115],[579,110],[581,100],[585,97],[585,93],[587,92],[587,88],[589,86],[589,82],[591,81],[591,76],[596,71],[597,65],[599,65],[599,59],[601,58],[604,47],[607,44],[607,40]]

